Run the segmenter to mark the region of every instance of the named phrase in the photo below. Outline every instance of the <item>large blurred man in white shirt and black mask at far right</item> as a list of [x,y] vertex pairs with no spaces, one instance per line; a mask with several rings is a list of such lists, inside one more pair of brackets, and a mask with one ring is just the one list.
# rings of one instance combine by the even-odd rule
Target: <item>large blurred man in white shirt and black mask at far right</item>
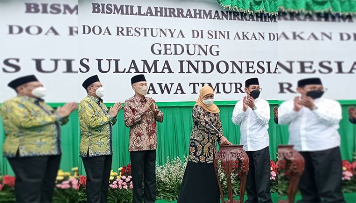
[[299,183],[299,202],[344,202],[341,192],[340,154],[341,105],[322,98],[325,92],[320,78],[298,81],[301,96],[283,102],[279,124],[289,125],[289,144],[305,159]]

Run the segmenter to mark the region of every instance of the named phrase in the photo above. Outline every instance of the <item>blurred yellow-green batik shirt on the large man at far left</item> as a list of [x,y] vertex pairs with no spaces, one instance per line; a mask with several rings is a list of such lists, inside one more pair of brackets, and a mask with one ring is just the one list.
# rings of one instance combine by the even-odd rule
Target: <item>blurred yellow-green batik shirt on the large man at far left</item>
[[60,155],[61,125],[69,119],[55,114],[42,99],[16,96],[1,106],[6,139],[3,154],[15,157]]

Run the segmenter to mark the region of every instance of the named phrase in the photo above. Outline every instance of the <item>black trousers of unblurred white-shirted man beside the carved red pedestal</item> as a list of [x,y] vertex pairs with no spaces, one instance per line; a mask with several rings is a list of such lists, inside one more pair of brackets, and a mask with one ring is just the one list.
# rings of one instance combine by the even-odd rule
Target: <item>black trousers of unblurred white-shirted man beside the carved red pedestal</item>
[[246,181],[247,200],[245,202],[272,202],[270,191],[271,163],[269,147],[246,152],[249,173]]

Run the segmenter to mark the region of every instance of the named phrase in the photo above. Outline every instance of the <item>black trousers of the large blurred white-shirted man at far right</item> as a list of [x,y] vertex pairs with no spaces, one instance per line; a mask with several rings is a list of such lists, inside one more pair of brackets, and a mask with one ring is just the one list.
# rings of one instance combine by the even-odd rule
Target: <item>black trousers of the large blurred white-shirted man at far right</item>
[[299,182],[302,199],[298,202],[345,202],[341,192],[340,148],[300,153],[305,168]]

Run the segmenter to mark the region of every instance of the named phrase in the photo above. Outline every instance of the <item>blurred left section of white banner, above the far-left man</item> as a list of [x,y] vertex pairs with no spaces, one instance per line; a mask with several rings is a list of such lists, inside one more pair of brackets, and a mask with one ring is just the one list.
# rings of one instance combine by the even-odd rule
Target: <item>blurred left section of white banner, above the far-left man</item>
[[0,1],[0,102],[15,96],[7,84],[35,74],[46,102],[79,101],[77,1]]

